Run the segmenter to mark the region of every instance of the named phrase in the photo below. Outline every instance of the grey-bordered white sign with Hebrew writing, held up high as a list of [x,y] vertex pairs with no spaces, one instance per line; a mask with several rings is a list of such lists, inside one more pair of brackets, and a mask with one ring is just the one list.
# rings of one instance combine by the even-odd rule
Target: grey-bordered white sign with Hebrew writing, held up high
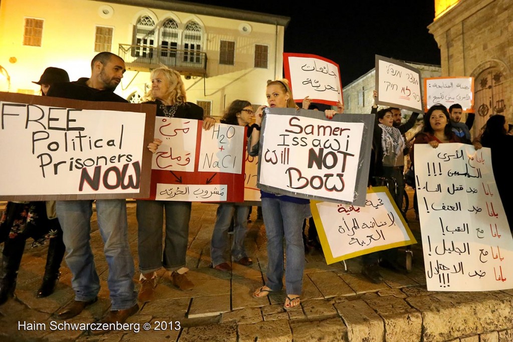
[[406,63],[376,55],[377,104],[422,112],[420,71]]

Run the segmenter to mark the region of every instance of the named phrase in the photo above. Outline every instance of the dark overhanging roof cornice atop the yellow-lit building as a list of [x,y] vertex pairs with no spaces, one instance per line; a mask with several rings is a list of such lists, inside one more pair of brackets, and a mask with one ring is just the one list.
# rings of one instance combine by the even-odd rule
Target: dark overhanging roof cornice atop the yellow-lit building
[[100,3],[120,4],[136,7],[164,9],[192,13],[196,15],[209,15],[254,23],[271,24],[287,27],[290,18],[287,16],[273,15],[260,12],[251,12],[228,7],[195,4],[181,1],[164,0],[89,0]]

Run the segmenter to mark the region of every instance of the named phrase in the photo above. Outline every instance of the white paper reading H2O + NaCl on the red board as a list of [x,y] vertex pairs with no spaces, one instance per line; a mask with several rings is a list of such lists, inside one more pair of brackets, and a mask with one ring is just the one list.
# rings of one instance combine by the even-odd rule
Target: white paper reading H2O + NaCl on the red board
[[216,123],[201,136],[198,170],[241,174],[245,147],[243,126]]

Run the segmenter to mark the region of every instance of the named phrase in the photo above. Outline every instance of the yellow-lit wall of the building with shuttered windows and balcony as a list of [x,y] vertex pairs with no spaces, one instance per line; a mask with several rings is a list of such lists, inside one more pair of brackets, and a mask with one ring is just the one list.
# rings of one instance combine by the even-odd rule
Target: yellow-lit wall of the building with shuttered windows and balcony
[[[102,8],[110,6],[112,15],[105,18]],[[11,92],[38,93],[37,81],[48,66],[68,71],[70,79],[90,76],[94,52],[95,27],[113,28],[112,50],[119,44],[132,44],[133,25],[142,14],[155,23],[172,17],[180,25],[195,20],[204,28],[204,49],[207,53],[207,78],[184,79],[187,100],[212,101],[212,115],[220,115],[225,104],[235,99],[251,103],[265,102],[266,81],[281,77],[284,27],[208,15],[142,8],[90,0],[2,0],[0,1],[0,66],[10,76]],[[42,46],[24,46],[26,17],[44,20]],[[249,24],[250,32],[241,33],[241,25]],[[219,65],[221,40],[235,42],[234,65]],[[269,46],[268,68],[254,68],[254,45]],[[115,92],[128,98],[142,93],[150,85],[149,72],[127,70]],[[5,77],[0,75],[0,91],[7,91]]]

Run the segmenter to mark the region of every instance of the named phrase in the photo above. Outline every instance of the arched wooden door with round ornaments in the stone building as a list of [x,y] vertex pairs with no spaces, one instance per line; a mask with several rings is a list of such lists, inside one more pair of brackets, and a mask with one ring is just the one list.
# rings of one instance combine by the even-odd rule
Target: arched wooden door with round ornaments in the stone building
[[505,77],[498,67],[482,71],[475,80],[476,135],[492,114],[504,115]]

